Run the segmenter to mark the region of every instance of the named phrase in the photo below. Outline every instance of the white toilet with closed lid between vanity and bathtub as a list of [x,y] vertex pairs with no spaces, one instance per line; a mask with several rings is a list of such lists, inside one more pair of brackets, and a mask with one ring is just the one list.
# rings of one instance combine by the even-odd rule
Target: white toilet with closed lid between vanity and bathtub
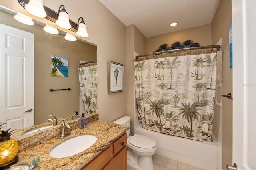
[[[130,127],[129,116],[121,117],[113,123]],[[134,134],[130,136],[130,129],[127,133],[127,168],[137,170],[154,170],[152,156],[156,153],[156,142],[143,135]]]

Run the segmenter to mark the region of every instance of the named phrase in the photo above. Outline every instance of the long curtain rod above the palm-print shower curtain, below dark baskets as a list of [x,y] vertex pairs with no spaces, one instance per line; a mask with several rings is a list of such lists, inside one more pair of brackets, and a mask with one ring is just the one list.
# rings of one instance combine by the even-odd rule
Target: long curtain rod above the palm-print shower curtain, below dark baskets
[[143,55],[137,55],[136,59],[140,57],[146,57],[147,55],[156,55],[156,54],[161,54],[161,53],[171,53],[175,51],[186,51],[186,50],[193,50],[193,49],[207,49],[207,48],[216,48],[217,51],[220,50],[220,45],[208,45],[208,46],[200,46],[200,47],[190,47],[190,48],[182,48],[182,49],[171,49],[168,51],[160,51],[160,52],[155,52],[155,53],[149,53],[149,54],[143,54]]

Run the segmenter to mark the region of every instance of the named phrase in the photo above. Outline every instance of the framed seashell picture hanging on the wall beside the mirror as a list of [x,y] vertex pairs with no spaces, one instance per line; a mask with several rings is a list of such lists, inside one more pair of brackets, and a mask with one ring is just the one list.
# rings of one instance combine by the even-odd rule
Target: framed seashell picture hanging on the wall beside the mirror
[[124,65],[108,61],[108,93],[124,91]]

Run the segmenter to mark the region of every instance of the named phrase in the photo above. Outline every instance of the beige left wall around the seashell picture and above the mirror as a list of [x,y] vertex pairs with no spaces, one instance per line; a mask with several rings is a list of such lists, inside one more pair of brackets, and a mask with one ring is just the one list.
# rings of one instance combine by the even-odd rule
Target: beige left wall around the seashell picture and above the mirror
[[[17,1],[1,0],[0,3],[18,12],[31,16],[24,10],[22,6],[20,6],[20,4],[18,4]],[[54,11],[58,11],[61,4],[65,6],[70,16],[70,20],[77,22],[80,16],[84,18],[89,37],[83,39],[97,45],[99,119],[105,121],[114,121],[119,117],[126,115],[126,82],[124,84],[123,92],[108,94],[107,91],[108,61],[122,63],[125,65],[126,70],[126,27],[99,1],[44,1],[44,5]],[[37,19],[55,26],[54,23],[49,22],[44,18]],[[67,32],[75,35],[75,33],[72,31],[67,30]],[[124,76],[126,77],[126,73]],[[74,99],[76,97],[65,97],[65,99],[70,98]],[[73,111],[73,109],[71,110]]]

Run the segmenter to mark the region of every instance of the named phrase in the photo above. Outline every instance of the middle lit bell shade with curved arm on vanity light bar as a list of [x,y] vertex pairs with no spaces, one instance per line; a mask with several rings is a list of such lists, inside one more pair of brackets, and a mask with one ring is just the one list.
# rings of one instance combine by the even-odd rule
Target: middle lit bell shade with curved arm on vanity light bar
[[[62,10],[60,10],[61,7],[63,7]],[[61,28],[70,29],[71,25],[69,23],[68,13],[65,10],[64,5],[61,5],[60,8],[58,12],[58,20],[56,20],[55,23]]]

